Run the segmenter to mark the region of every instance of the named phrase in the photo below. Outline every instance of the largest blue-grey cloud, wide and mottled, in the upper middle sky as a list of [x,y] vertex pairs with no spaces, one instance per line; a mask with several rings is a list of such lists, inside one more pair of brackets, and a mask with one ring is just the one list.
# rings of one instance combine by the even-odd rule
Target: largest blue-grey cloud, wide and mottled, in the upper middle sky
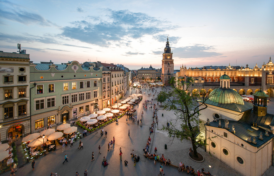
[[74,21],[71,26],[65,26],[61,30],[62,35],[70,39],[98,46],[110,46],[116,43],[124,45],[128,39],[153,35],[172,27],[163,23],[169,22],[160,21],[144,13],[106,9],[102,11],[101,16],[88,16],[86,20]]

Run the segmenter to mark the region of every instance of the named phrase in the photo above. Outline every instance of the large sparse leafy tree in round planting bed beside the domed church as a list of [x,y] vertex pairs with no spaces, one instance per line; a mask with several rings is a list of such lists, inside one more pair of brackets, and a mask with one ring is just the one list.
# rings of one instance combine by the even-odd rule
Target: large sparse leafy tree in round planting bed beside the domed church
[[[176,86],[175,78],[169,80],[169,84],[172,89],[168,92],[161,91],[157,100],[164,100],[164,109],[173,110],[176,115],[176,123],[170,121],[170,128],[165,126],[162,130],[168,131],[169,137],[176,137],[181,141],[183,139],[191,138],[194,157],[198,157],[197,145],[206,145],[203,137],[197,135],[199,132],[199,126],[202,121],[199,115],[202,110],[207,108],[205,101],[209,98],[208,94],[199,94],[198,91],[190,92],[188,88],[192,84],[192,78],[188,78],[188,82],[178,81]],[[180,85],[180,86],[178,86]],[[179,88],[180,87],[180,88]],[[213,95],[211,95],[213,96]],[[160,102],[160,101],[159,101]],[[180,126],[176,126],[179,123]]]

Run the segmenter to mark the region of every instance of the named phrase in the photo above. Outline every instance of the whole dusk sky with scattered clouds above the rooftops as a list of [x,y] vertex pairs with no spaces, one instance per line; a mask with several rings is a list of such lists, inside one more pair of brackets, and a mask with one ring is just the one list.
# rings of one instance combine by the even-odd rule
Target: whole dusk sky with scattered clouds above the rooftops
[[160,68],[168,37],[174,69],[261,67],[274,55],[273,7],[273,0],[0,0],[0,50],[17,52],[21,43],[34,63]]

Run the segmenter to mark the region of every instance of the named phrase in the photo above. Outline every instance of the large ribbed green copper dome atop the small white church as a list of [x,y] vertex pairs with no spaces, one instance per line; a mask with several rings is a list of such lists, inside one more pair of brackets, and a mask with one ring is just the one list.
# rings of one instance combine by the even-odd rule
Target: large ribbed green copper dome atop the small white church
[[229,103],[244,104],[243,98],[240,96],[240,94],[228,88],[217,88],[212,90],[209,94],[208,99],[219,104],[229,104]]

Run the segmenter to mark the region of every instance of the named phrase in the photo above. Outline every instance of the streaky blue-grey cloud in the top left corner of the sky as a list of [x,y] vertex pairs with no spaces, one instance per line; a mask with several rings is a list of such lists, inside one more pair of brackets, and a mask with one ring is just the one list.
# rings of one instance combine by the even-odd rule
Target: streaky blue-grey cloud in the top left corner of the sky
[[2,19],[17,21],[24,25],[30,25],[35,23],[41,26],[56,26],[51,21],[44,19],[41,15],[21,10],[22,7],[13,7],[14,5],[12,3],[7,3],[8,1],[5,2],[6,3],[4,5],[0,6],[0,17]]

